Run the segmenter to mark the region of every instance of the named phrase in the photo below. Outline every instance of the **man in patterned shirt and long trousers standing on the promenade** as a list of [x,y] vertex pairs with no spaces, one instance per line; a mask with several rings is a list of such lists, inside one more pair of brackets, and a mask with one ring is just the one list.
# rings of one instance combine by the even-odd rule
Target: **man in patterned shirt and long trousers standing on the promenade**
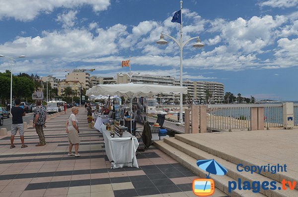
[[39,137],[39,143],[35,146],[44,146],[46,144],[45,133],[43,127],[45,126],[47,120],[47,110],[41,105],[41,100],[36,101],[36,108],[33,114],[33,127]]

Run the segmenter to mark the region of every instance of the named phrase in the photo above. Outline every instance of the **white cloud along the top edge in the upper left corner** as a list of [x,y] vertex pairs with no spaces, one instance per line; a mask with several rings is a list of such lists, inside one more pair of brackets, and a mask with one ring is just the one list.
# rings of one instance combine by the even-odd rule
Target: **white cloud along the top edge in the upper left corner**
[[14,18],[15,20],[30,21],[40,13],[51,13],[55,8],[76,8],[90,5],[94,12],[106,10],[110,0],[0,0],[0,20]]

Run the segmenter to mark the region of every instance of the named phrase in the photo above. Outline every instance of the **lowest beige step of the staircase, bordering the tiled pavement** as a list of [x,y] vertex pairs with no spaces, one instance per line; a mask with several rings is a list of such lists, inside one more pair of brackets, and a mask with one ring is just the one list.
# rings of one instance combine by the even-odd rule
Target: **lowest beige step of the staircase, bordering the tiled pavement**
[[[176,159],[179,163],[183,166],[190,169],[192,172],[198,175],[198,178],[205,178],[206,172],[201,170],[197,166],[197,159],[193,158],[192,156],[178,150],[177,148],[165,143],[164,141],[154,141],[154,145],[165,152],[166,154],[170,155],[172,158]],[[259,193],[252,193],[249,190],[238,190],[235,189],[228,192],[228,182],[229,181],[236,181],[229,176],[217,176],[217,175],[210,175],[210,178],[215,181],[215,187],[230,197],[266,197],[265,195]],[[237,181],[236,181],[237,182]]]

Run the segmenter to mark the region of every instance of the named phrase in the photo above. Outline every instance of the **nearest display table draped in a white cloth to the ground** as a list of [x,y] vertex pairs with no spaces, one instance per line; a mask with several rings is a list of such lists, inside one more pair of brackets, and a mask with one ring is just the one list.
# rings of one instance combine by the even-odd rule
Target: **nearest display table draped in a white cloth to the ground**
[[[136,151],[139,146],[138,139],[129,132],[123,132],[123,136],[119,137],[115,133],[115,137],[111,137],[110,131],[106,130],[105,125],[101,125],[105,151],[111,168],[122,168],[124,166],[139,168]],[[99,130],[99,131],[100,131]]]

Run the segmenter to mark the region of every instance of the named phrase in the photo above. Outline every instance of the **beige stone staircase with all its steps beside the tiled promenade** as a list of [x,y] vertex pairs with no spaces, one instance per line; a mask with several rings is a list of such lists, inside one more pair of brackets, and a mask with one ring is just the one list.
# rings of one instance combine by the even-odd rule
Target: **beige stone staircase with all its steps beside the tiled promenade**
[[[201,134],[201,133],[199,133]],[[202,133],[203,134],[203,133]],[[211,134],[211,133],[210,133]],[[281,181],[286,179],[287,181],[298,182],[298,176],[292,174],[292,177],[287,176],[286,173],[262,172],[261,174],[250,172],[238,172],[236,169],[237,164],[242,163],[243,166],[260,165],[259,161],[252,160],[247,161],[245,155],[241,154],[229,154],[220,146],[208,143],[204,139],[200,140],[192,136],[192,134],[176,134],[175,137],[164,138],[163,141],[154,141],[154,145],[160,150],[170,155],[177,160],[183,166],[187,167],[200,178],[206,178],[206,172],[201,170],[197,164],[197,160],[202,159],[215,159],[221,165],[227,169],[225,176],[218,176],[210,174],[210,178],[215,181],[215,186],[219,190],[231,197],[298,197],[298,184],[296,184],[295,190],[290,190],[287,186],[287,190],[282,189]],[[264,165],[264,164],[263,164]],[[293,178],[296,177],[296,178]],[[242,187],[243,182],[248,181],[252,186],[254,181],[259,181],[262,184],[264,181],[269,182],[268,188],[270,188],[270,182],[276,181],[276,190],[262,190],[260,187],[259,193],[253,193],[251,190],[239,190],[238,188],[228,192],[229,181],[235,181],[238,186],[238,179],[241,179]],[[254,190],[257,191],[257,190]]]

